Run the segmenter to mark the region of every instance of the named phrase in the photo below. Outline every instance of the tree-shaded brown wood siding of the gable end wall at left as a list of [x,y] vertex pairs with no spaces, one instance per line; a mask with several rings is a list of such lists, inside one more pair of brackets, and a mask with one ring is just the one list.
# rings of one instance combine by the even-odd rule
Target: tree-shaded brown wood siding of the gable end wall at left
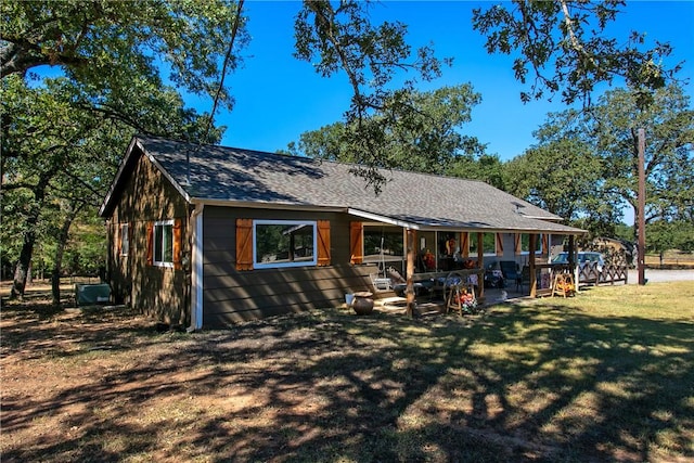
[[[118,301],[167,323],[190,322],[190,276],[183,269],[147,263],[147,227],[157,220],[180,220],[180,255],[190,255],[188,214],[183,196],[146,156],[140,155],[108,219],[108,273]],[[128,256],[118,253],[121,223],[131,227]]]

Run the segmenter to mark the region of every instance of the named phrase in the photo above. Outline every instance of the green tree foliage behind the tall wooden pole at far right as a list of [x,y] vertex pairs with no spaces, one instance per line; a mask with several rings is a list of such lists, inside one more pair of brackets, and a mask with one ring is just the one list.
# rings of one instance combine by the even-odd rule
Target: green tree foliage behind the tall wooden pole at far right
[[694,111],[679,86],[654,92],[640,107],[639,91],[606,92],[590,112],[595,153],[603,159],[605,188],[638,206],[638,129],[646,134],[646,222],[694,218]]

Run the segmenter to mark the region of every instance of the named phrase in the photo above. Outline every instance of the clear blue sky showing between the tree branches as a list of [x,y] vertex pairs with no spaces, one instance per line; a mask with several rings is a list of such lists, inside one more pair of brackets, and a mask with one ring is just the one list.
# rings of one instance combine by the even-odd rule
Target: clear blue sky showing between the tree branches
[[[472,10],[492,5],[473,1],[383,1],[374,4],[374,24],[383,20],[408,25],[413,47],[433,43],[438,56],[452,56],[454,64],[444,76],[422,89],[470,82],[481,93],[483,103],[473,110],[473,121],[462,128],[488,144],[489,153],[507,160],[534,143],[532,131],[548,112],[562,111],[554,103],[523,104],[518,83],[507,55],[487,54],[485,38],[472,29]],[[295,1],[246,1],[249,47],[242,51],[244,64],[227,78],[235,98],[232,112],[222,111],[216,123],[227,126],[222,144],[273,152],[285,149],[299,134],[342,119],[348,108],[350,88],[344,75],[321,78],[310,63],[293,57]],[[608,34],[626,41],[628,30],[647,33],[652,40],[674,47],[671,63],[685,61],[680,78],[694,85],[694,1],[631,1]],[[527,89],[527,87],[525,88]],[[198,111],[210,111],[211,102],[190,98]]]

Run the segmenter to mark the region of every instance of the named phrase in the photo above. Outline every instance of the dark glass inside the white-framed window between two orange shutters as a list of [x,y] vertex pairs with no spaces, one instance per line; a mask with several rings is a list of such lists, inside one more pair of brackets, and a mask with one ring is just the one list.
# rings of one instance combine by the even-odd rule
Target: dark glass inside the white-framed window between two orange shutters
[[257,223],[256,256],[258,263],[312,262],[311,223]]

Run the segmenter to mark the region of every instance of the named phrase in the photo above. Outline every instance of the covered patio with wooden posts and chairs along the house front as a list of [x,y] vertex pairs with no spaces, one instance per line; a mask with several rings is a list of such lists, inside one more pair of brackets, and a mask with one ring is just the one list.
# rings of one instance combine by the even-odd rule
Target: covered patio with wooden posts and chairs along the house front
[[[576,271],[576,236],[586,231],[557,223],[556,216],[530,217],[519,209],[492,213],[484,222],[400,220],[350,209],[362,219],[351,222],[351,262],[373,266],[374,298],[387,299],[389,306],[404,304],[408,313],[417,304],[450,305],[452,286],[474,294],[478,304],[510,295],[551,295],[557,279],[567,290]],[[569,262],[551,265],[560,252],[569,253]]]

